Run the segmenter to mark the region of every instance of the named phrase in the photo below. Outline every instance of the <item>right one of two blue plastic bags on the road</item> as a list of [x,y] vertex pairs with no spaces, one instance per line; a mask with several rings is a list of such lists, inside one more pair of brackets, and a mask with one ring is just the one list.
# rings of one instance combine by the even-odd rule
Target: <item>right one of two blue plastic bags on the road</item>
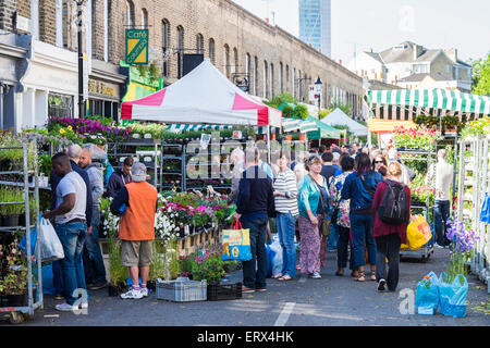
[[468,282],[463,274],[457,274],[452,283],[448,283],[446,278],[446,274],[442,272],[439,277],[441,314],[464,318],[466,316]]

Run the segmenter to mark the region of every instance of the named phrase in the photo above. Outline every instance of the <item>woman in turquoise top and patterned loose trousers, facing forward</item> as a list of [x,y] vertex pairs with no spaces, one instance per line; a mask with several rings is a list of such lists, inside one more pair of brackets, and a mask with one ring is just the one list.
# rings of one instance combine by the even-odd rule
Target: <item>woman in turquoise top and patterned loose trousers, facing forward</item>
[[328,214],[327,208],[321,202],[328,204],[329,201],[327,181],[320,174],[321,164],[318,154],[311,156],[308,160],[309,175],[305,175],[298,185],[298,227],[302,241],[299,265],[302,273],[308,273],[315,279],[321,278],[319,226],[323,216]]

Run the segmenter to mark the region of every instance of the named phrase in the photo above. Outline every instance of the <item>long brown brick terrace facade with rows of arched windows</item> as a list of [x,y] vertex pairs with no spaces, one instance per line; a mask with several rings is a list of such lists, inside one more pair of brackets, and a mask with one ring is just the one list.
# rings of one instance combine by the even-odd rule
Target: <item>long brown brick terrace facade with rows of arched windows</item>
[[[74,1],[3,0],[3,3],[0,28],[14,29],[16,11],[30,18],[30,34],[36,39],[77,50]],[[323,82],[322,107],[339,100],[353,104],[354,116],[360,116],[362,78],[230,0],[85,0],[85,3],[84,22],[89,24],[91,44],[86,36],[84,46],[91,47],[93,60],[119,67],[125,54],[124,29],[147,26],[149,57],[167,83],[177,78],[179,51],[200,51],[230,79],[237,73],[249,74],[249,92],[264,98],[290,92],[308,102],[308,85],[319,76]]]

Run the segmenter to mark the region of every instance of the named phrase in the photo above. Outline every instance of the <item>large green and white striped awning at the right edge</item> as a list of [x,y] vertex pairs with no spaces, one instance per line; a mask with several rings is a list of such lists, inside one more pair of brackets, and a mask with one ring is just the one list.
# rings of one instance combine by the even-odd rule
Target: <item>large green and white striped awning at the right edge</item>
[[490,114],[490,98],[445,89],[369,90],[367,102],[379,104],[445,110],[453,113]]

